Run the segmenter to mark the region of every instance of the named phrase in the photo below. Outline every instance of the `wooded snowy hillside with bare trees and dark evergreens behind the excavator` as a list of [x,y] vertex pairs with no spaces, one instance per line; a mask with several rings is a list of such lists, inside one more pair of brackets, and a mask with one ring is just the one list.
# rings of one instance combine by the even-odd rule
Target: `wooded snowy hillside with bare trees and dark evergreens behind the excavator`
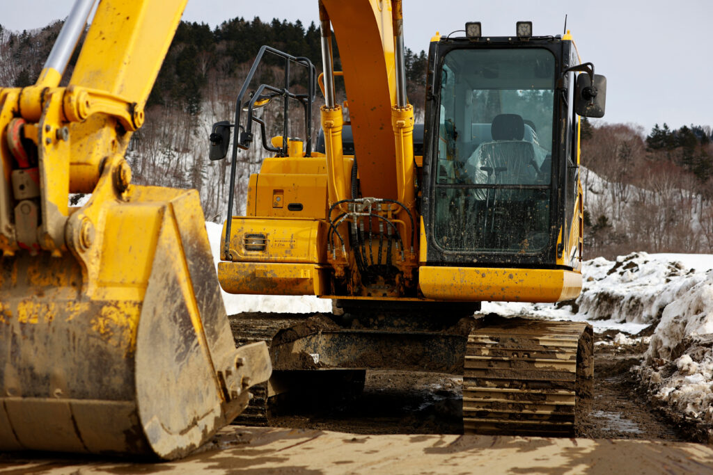
[[[57,21],[34,31],[8,31],[0,25],[0,84],[34,83],[59,33]],[[321,70],[319,28],[273,19],[206,24],[181,22],[148,103],[146,121],[132,137],[128,160],[134,182],[195,188],[206,219],[221,222],[227,212],[228,160],[208,160],[210,127],[232,120],[237,92],[262,45],[310,58]],[[339,51],[334,45],[335,69]],[[76,62],[72,58],[66,78]],[[265,61],[252,89],[282,81],[277,58]],[[426,53],[406,51],[407,93],[423,119]],[[296,71],[290,87],[304,93],[306,78]],[[611,85],[613,87],[613,85]],[[339,101],[344,85],[338,81]],[[317,95],[314,110],[322,105]],[[267,135],[279,135],[282,108],[265,108]],[[290,135],[304,137],[304,115],[289,111]],[[319,115],[312,118],[319,130]],[[259,135],[259,134],[258,134]],[[713,249],[713,133],[709,125],[650,131],[635,124],[583,122],[582,173],[585,192],[585,259],[612,259],[632,251],[711,253]],[[245,211],[247,177],[258,172],[265,151],[260,137],[241,151],[234,192]]]

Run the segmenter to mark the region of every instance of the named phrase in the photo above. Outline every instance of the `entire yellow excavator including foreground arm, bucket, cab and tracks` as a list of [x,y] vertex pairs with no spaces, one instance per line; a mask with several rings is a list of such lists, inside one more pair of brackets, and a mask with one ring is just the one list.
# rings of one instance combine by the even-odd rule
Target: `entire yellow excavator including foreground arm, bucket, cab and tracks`
[[[359,382],[390,366],[464,372],[467,430],[572,432],[591,329],[472,318],[481,301],[580,289],[576,115],[602,115],[605,83],[570,36],[525,23],[489,38],[473,23],[434,37],[421,143],[401,2],[320,2],[315,150],[319,81],[284,53],[284,85],[248,98],[247,81],[234,122],[211,137],[225,156],[232,127],[234,184],[237,149],[265,124],[257,110],[275,98],[285,115],[290,101],[305,110],[305,140],[285,118],[263,143],[275,156],[250,178],[247,216],[232,216],[231,197],[220,284],[332,298],[337,311],[261,333],[260,315],[227,318],[195,192],[136,186],[124,157],[185,0],[101,0],[60,85],[95,3],[76,1],[36,84],[0,89],[0,450],[173,459],[239,414],[251,388],[262,410],[311,375]],[[290,90],[290,66],[307,88]],[[91,198],[70,207],[71,193]]]

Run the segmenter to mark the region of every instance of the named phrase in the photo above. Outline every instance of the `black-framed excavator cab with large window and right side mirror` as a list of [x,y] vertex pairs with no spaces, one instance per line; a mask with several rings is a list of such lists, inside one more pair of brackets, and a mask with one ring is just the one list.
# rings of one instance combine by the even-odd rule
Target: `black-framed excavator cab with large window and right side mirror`
[[[422,288],[450,266],[483,275],[486,300],[577,295],[578,114],[603,114],[605,79],[591,63],[580,65],[569,35],[434,38],[428,71]],[[598,85],[596,98],[584,90],[584,78]],[[431,271],[430,263],[441,268]],[[502,280],[499,268],[513,268],[520,285],[508,284],[509,271]],[[538,271],[525,276],[525,269]],[[528,285],[537,293],[523,291]]]

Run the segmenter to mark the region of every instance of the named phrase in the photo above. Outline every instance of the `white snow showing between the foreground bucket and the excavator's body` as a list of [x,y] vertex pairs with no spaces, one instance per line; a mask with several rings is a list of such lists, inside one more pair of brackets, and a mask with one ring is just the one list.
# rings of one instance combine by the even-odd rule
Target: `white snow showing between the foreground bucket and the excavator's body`
[[[210,251],[213,254],[213,263],[220,262],[220,234],[222,225],[205,222],[205,230],[210,241]],[[287,312],[287,313],[316,313],[331,312],[332,301],[315,296],[249,296],[235,295],[220,289],[225,310],[228,315],[241,312]]]

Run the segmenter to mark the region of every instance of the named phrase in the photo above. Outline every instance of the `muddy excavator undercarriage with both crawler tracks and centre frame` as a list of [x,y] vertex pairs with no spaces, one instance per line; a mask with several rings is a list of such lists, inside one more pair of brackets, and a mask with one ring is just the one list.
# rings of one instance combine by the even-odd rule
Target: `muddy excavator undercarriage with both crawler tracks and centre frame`
[[593,385],[586,323],[473,315],[477,303],[335,302],[334,313],[242,313],[230,317],[238,345],[270,348],[270,381],[252,388],[237,423],[272,414],[314,388],[328,400],[358,395],[367,370],[463,376],[463,431],[574,434]]

